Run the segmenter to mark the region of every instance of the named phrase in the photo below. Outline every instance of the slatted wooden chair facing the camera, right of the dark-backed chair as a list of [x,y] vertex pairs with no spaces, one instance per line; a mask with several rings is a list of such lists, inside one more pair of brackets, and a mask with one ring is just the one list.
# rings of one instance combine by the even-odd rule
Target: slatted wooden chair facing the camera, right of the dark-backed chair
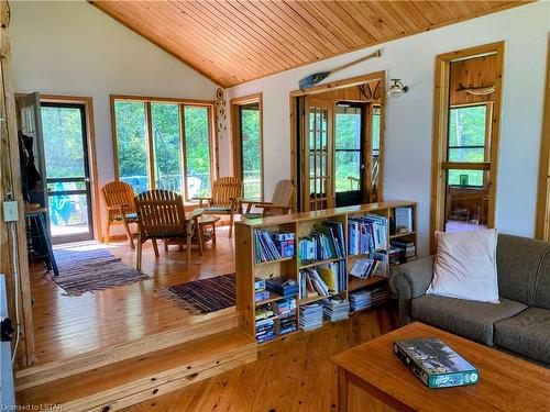
[[194,198],[199,200],[199,208],[207,202],[205,214],[229,215],[229,237],[233,234],[234,214],[240,207],[242,181],[238,177],[226,176],[213,181],[210,198]]

